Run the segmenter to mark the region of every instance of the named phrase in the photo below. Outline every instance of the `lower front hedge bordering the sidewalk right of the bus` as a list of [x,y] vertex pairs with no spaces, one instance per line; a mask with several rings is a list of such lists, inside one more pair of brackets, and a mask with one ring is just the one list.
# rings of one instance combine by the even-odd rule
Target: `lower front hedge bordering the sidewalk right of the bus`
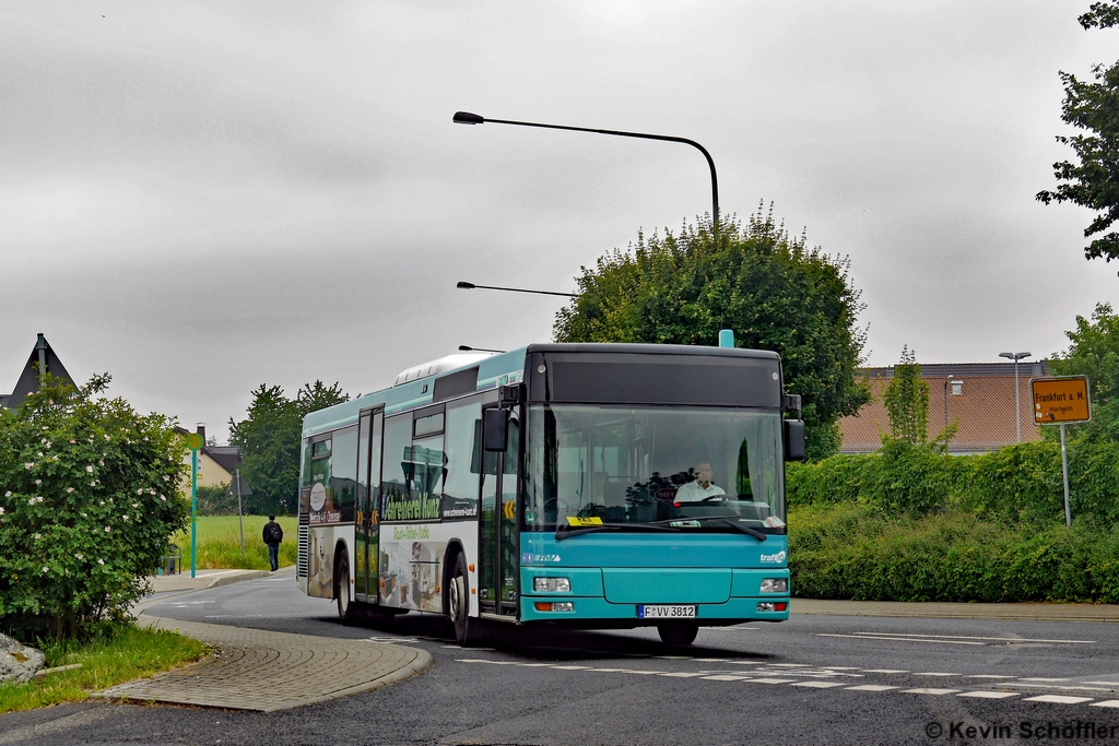
[[855,601],[1119,603],[1119,527],[1045,529],[867,503],[789,511],[792,591]]

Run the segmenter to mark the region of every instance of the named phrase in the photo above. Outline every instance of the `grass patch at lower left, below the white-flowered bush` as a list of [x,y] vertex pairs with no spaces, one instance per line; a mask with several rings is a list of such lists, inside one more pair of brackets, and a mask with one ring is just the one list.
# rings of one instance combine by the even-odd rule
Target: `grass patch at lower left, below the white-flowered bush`
[[81,701],[91,692],[197,661],[206,645],[166,630],[120,625],[86,643],[48,643],[47,665],[82,668],[49,674],[41,683],[0,683],[0,714]]

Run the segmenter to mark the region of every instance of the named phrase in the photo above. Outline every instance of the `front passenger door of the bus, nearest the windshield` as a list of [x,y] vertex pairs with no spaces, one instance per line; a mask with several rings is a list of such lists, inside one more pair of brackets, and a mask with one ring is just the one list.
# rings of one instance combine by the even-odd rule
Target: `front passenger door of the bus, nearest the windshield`
[[[487,407],[489,408],[489,407]],[[485,409],[483,409],[485,412]],[[485,422],[486,417],[482,416]],[[485,426],[483,426],[485,427]],[[482,433],[485,443],[485,433]],[[482,612],[515,618],[517,588],[517,464],[520,427],[509,415],[508,447],[482,451],[481,520],[479,521],[479,602]]]

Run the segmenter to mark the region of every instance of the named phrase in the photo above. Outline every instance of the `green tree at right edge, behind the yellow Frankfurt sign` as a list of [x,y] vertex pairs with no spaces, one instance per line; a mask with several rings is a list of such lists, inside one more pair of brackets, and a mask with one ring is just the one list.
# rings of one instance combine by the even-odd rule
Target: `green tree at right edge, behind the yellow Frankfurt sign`
[[[1071,425],[1073,440],[1092,443],[1119,442],[1119,315],[1110,303],[1098,303],[1091,319],[1076,317],[1076,328],[1066,331],[1071,344],[1053,356],[1050,369],[1057,376],[1088,376],[1092,419]],[[1043,427],[1055,437],[1055,427]]]

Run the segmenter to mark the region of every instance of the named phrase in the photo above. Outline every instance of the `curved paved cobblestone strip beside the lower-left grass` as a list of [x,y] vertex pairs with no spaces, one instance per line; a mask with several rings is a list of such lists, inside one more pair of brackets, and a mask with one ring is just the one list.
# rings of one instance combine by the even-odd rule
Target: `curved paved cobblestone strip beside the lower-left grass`
[[424,650],[304,634],[141,616],[218,649],[176,671],[97,692],[105,699],[197,705],[271,712],[369,691],[432,663]]

